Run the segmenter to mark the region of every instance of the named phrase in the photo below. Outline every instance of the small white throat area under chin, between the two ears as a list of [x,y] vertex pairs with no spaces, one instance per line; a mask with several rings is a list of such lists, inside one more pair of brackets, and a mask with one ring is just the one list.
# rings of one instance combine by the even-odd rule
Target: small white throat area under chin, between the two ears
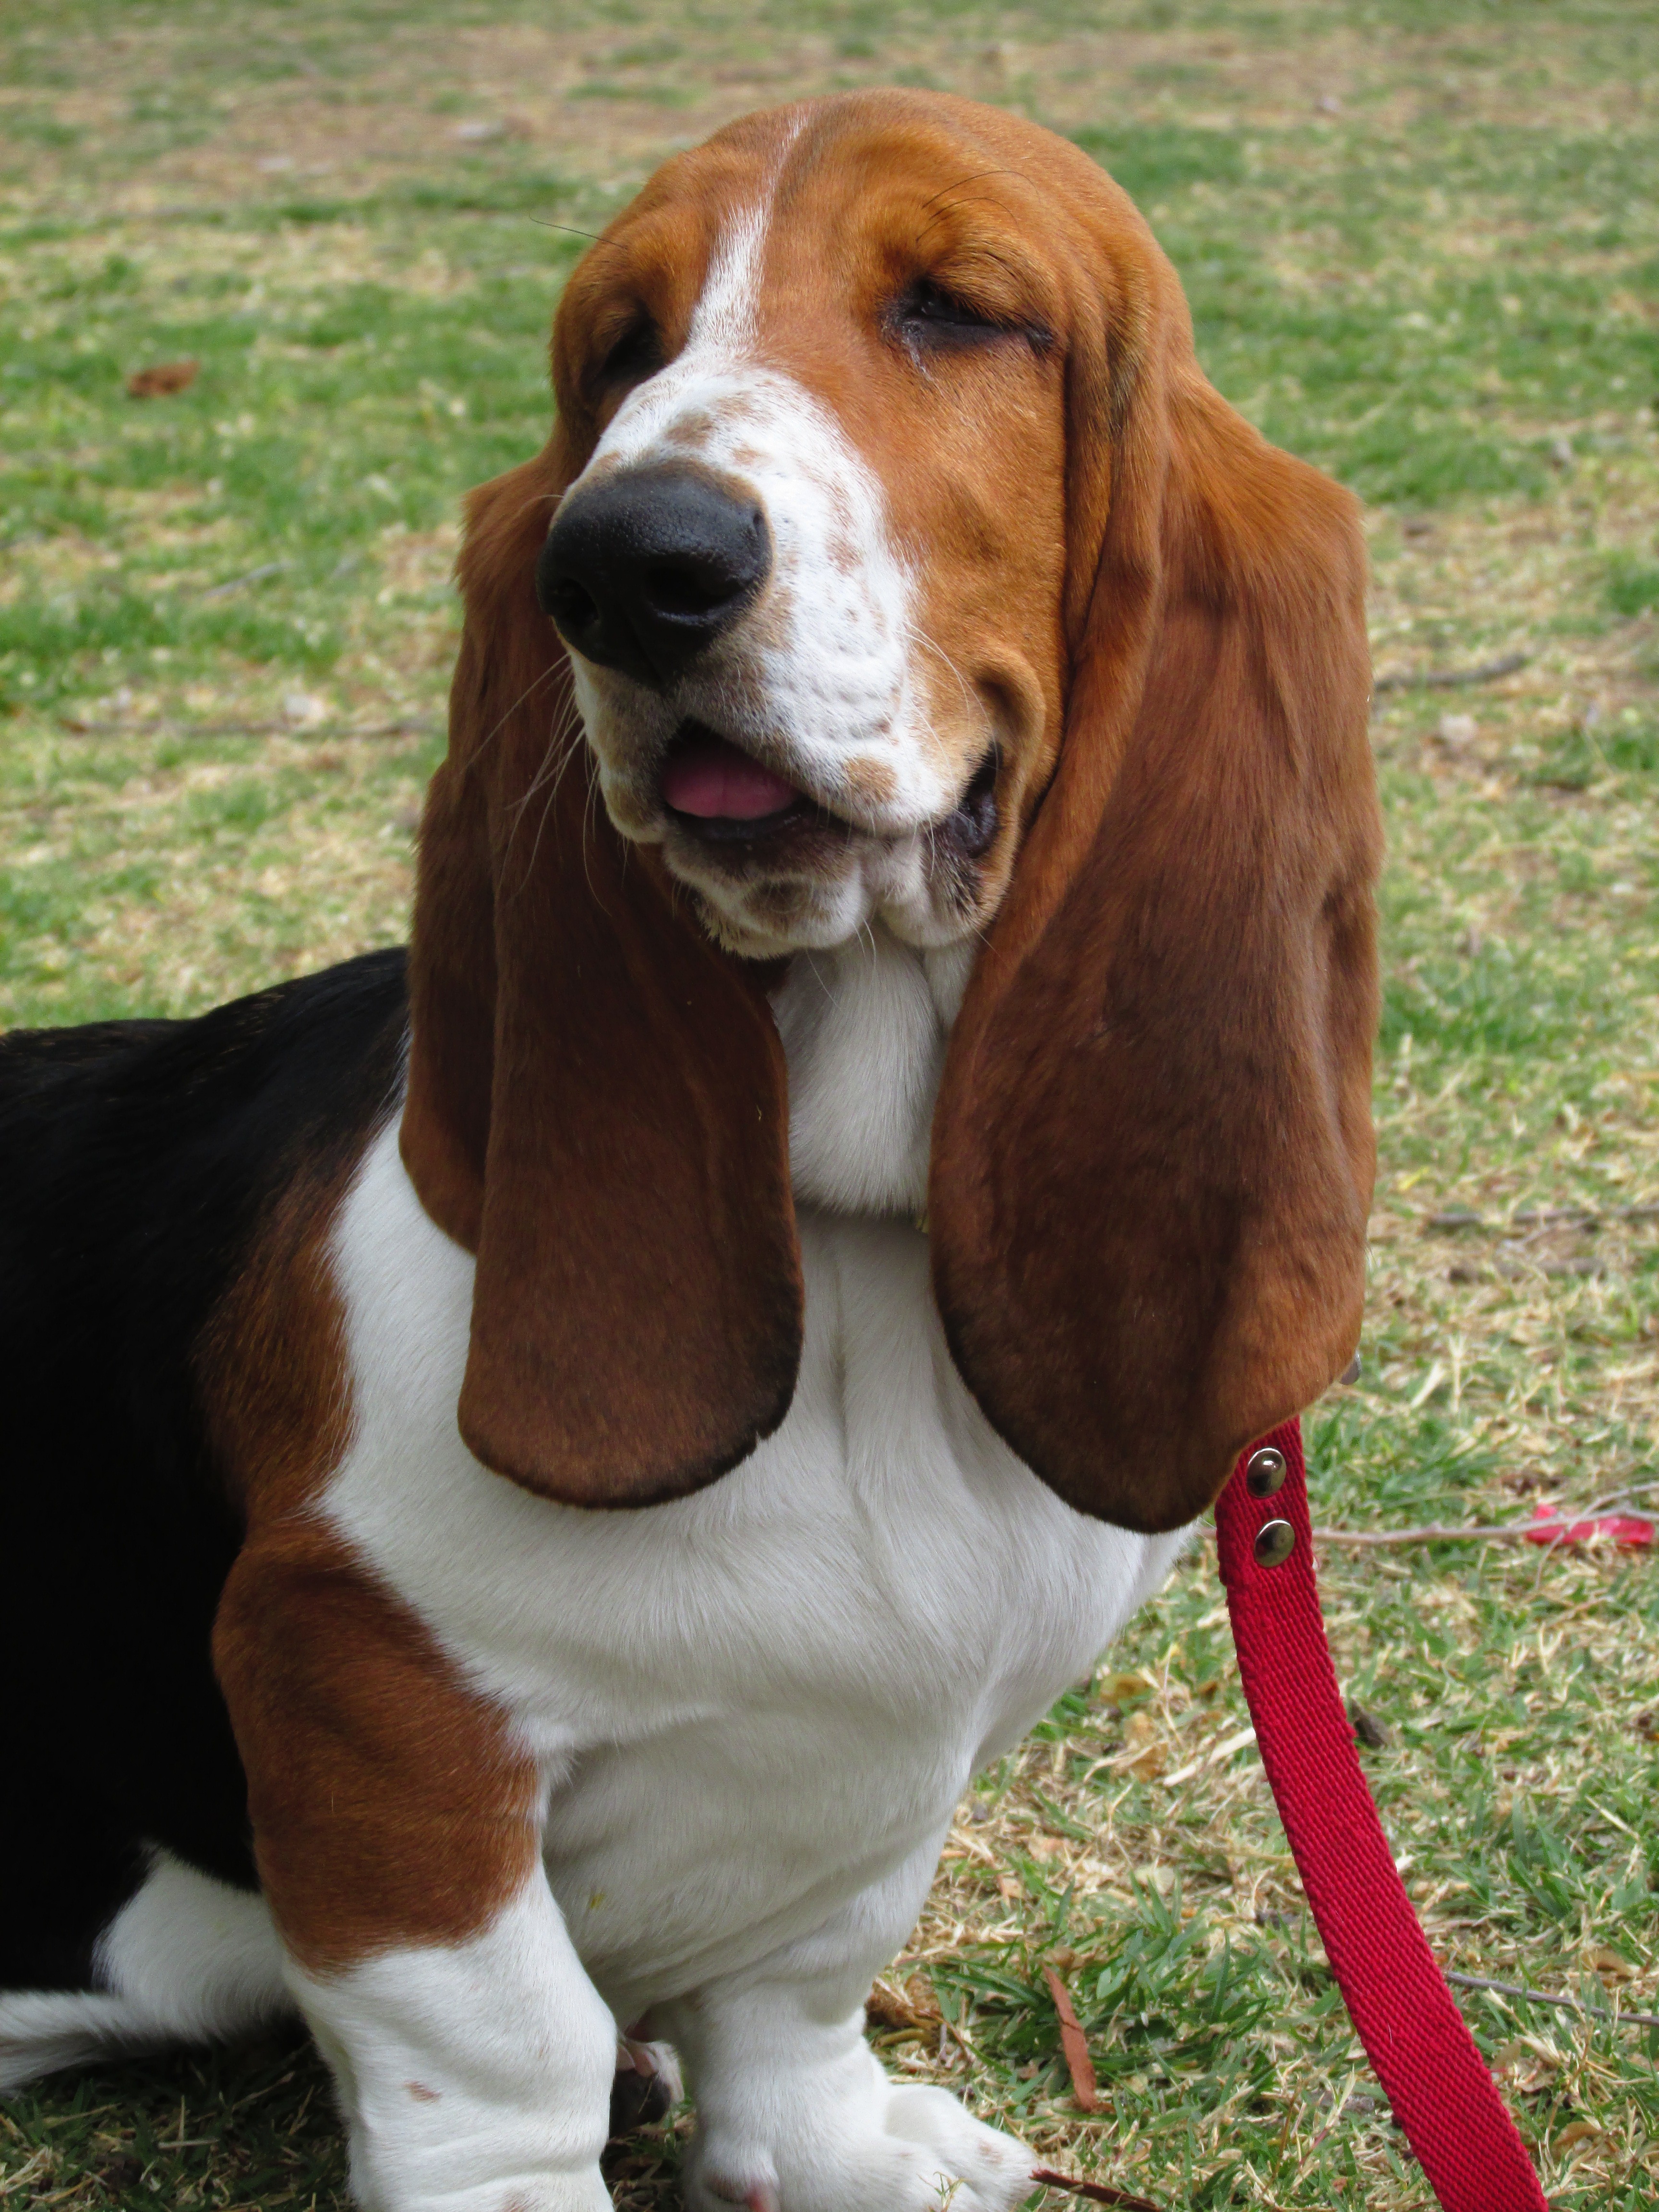
[[880,922],[803,951],[772,993],[790,1062],[790,1168],[803,1206],[920,1214],[945,1044],[978,938],[922,951]]

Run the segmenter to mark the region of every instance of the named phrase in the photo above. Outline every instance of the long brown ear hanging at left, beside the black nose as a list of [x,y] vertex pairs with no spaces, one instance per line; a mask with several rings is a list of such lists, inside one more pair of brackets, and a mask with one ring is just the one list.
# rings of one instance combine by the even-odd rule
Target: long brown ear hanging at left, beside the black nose
[[420,827],[403,1159],[478,1254],[469,1449],[571,1504],[741,1460],[801,1349],[783,1048],[591,787],[533,566],[560,440],[473,493],[449,757]]

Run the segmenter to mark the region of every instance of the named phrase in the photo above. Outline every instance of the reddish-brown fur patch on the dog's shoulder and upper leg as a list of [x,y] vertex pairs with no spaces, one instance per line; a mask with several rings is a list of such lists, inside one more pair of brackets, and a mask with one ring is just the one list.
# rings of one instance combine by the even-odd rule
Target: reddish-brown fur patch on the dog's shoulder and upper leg
[[314,1973],[480,1933],[538,1854],[535,1765],[509,1719],[303,1515],[352,1444],[330,1245],[372,1141],[367,1128],[296,1168],[197,1345],[210,1444],[248,1520],[212,1657],[259,1880]]

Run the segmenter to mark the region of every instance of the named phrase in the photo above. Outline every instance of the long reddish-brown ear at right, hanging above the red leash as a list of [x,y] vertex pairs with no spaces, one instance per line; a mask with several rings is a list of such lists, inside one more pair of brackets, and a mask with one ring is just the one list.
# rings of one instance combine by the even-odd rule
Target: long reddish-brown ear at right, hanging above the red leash
[[[1068,369],[1073,679],[933,1124],[933,1283],[993,1427],[1172,1528],[1358,1340],[1380,832],[1356,509],[1128,276]],[[1133,228],[1130,228],[1133,226]]]

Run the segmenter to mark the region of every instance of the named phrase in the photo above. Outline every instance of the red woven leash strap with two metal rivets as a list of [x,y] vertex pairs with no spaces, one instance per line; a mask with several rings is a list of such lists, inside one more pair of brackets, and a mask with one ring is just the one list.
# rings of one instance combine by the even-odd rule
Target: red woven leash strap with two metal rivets
[[1301,1422],[1287,1420],[1239,1460],[1214,1517],[1261,1763],[1394,2117],[1444,2212],[1548,2212],[1360,1774],[1318,1610]]

